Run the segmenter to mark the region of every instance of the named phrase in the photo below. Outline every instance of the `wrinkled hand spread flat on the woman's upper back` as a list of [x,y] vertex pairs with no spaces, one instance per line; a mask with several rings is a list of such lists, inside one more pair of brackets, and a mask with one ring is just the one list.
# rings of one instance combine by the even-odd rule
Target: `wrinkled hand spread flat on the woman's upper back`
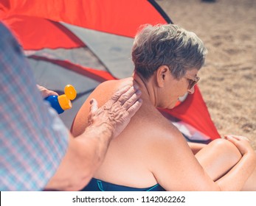
[[138,86],[127,86],[114,93],[114,96],[102,107],[97,107],[97,101],[91,99],[91,109],[89,113],[88,126],[99,126],[106,124],[108,129],[113,132],[115,138],[128,125],[131,117],[134,116],[142,105],[142,99],[139,99],[141,91]]

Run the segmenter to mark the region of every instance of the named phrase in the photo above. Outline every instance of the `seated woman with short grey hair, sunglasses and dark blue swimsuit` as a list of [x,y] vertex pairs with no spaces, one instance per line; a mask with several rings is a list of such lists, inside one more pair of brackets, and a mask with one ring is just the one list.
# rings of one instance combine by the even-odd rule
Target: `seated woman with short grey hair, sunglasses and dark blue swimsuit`
[[194,154],[181,132],[157,110],[171,109],[179,97],[194,92],[206,52],[193,32],[179,26],[148,25],[140,30],[132,49],[133,77],[103,82],[75,117],[72,133],[80,135],[88,124],[91,98],[101,106],[123,85],[139,85],[142,107],[110,143],[85,191],[256,189],[256,156],[246,138],[227,135]]

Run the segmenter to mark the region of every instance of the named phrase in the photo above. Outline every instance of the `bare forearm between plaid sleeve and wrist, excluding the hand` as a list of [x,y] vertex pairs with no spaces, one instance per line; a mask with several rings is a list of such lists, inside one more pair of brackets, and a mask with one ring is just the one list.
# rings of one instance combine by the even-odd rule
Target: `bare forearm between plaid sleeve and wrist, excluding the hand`
[[66,155],[46,189],[78,191],[86,186],[103,163],[112,135],[107,124],[88,127],[77,138],[70,135]]

